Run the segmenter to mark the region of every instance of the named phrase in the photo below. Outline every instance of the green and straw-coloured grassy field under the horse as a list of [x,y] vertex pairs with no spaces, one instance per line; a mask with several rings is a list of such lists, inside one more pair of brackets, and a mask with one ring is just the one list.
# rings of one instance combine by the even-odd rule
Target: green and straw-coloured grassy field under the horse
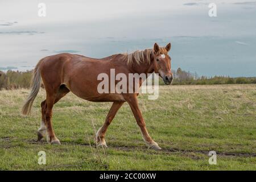
[[[40,91],[32,114],[20,115],[29,90],[0,91],[0,170],[256,170],[256,85],[160,86],[158,100],[139,96],[151,137],[163,150],[147,149],[127,104],[96,148],[95,129],[111,103],[69,93],[53,108],[60,146],[36,142]],[[94,129],[95,127],[95,129]],[[217,165],[209,165],[209,151]],[[46,165],[38,152],[46,151]]]

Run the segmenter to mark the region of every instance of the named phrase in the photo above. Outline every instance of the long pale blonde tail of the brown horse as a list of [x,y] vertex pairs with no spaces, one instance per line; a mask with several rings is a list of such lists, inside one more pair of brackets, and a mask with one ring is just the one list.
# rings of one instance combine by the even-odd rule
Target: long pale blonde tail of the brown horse
[[30,95],[28,96],[25,104],[22,107],[22,114],[24,114],[24,115],[30,114],[32,104],[33,104],[36,96],[38,95],[38,92],[40,89],[41,74],[40,74],[39,66],[40,66],[42,60],[40,60],[38,62],[38,64],[36,64],[36,67],[34,69],[33,78],[32,78],[32,82],[31,82],[32,89],[31,89]]

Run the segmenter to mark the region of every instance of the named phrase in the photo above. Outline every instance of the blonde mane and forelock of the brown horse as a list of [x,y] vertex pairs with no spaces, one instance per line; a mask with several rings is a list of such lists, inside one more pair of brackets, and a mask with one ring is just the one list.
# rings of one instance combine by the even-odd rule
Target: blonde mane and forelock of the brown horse
[[[135,51],[133,53],[124,53],[123,55],[125,55],[125,60],[127,61],[127,64],[129,66],[133,65],[134,63],[137,64],[141,64],[141,63],[147,63],[150,64],[151,63],[151,53],[154,53],[153,49],[144,49],[143,51]],[[160,47],[158,55],[160,54],[164,54],[167,55],[167,51],[165,48]],[[127,59],[126,59],[127,58]]]

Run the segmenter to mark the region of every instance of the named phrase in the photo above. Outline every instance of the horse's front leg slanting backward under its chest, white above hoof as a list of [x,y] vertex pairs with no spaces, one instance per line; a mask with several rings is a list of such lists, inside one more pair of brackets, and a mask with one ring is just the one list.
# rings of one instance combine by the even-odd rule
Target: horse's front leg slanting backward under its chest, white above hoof
[[98,146],[107,147],[105,142],[106,130],[108,129],[110,123],[115,117],[115,114],[117,114],[118,109],[123,105],[123,103],[124,102],[114,102],[113,105],[111,106],[104,125],[97,131],[97,134],[96,134],[96,142]]

